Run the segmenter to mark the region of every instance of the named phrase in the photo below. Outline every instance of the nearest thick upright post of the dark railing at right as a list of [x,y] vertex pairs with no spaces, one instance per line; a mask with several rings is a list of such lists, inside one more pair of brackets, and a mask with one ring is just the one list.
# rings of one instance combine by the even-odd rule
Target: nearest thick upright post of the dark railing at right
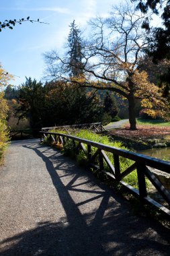
[[143,199],[147,196],[146,191],[146,183],[145,183],[145,177],[144,177],[144,169],[146,166],[144,164],[136,163],[136,169],[138,174],[138,191],[140,199]]

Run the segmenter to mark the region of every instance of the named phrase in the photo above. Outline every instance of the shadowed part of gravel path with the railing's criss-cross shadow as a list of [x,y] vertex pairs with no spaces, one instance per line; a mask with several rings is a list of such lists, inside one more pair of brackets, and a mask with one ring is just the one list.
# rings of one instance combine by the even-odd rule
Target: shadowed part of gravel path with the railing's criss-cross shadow
[[130,205],[91,172],[37,143],[24,148],[46,164],[66,215],[1,241],[1,256],[169,255],[169,230],[134,216]]

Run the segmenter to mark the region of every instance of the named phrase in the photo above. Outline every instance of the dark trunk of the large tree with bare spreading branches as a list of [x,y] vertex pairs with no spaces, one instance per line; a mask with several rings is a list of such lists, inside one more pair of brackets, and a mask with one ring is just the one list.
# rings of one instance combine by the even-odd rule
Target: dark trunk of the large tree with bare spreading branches
[[136,130],[135,102],[132,93],[128,96],[128,105],[130,130]]

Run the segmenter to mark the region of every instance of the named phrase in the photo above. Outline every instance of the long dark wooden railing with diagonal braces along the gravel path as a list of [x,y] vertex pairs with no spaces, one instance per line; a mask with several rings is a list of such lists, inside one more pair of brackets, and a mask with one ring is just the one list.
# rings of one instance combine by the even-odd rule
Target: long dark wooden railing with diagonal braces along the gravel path
[[[170,218],[170,210],[168,209],[170,206],[170,193],[169,191],[167,191],[167,189],[165,189],[165,187],[163,187],[160,181],[149,169],[150,167],[157,168],[158,170],[170,174],[170,162],[159,160],[157,158],[150,158],[148,156],[136,154],[128,150],[121,150],[111,146],[106,146],[101,143],[89,141],[87,139],[81,139],[72,135],[52,133],[46,131],[41,131],[40,133],[41,141],[48,137],[48,139],[55,143],[58,143],[60,146],[65,146],[65,143],[68,140],[71,140],[73,142],[73,148],[76,153],[78,153],[79,150],[83,150],[85,156],[87,157],[89,166],[96,168],[101,172],[104,172],[108,177],[110,177],[110,179],[118,181],[120,184],[122,184],[122,186],[128,189],[130,193],[138,197],[140,201],[142,201],[142,203],[150,204],[157,207],[157,209],[161,210],[163,214]],[[87,145],[87,149],[85,148],[85,145]],[[95,148],[95,152],[93,152],[93,154],[91,151],[91,147]],[[112,153],[114,164],[112,164],[105,152]],[[128,166],[128,168],[126,168],[126,170],[124,170],[123,172],[122,170],[120,170],[120,157],[128,158],[134,161],[131,166]],[[104,168],[104,162],[108,166],[109,170],[106,170],[106,168]],[[135,189],[134,187],[128,185],[123,181],[124,177],[126,177],[128,174],[130,174],[130,172],[134,170],[137,171],[138,189]],[[163,199],[165,199],[165,202],[168,206],[165,207],[161,205],[161,203],[155,201],[155,199],[151,199],[151,197],[148,196],[145,177],[149,181],[151,181],[153,187],[155,187],[157,191],[161,194]]]

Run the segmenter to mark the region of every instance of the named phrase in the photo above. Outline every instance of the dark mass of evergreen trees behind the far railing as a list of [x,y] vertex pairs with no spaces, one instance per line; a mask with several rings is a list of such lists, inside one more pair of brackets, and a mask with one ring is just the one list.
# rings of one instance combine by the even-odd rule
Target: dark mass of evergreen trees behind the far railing
[[106,124],[118,114],[114,94],[106,92],[101,98],[95,90],[62,81],[42,84],[29,77],[19,88],[7,86],[5,98],[14,103],[15,117],[29,119],[32,128],[99,121]]

